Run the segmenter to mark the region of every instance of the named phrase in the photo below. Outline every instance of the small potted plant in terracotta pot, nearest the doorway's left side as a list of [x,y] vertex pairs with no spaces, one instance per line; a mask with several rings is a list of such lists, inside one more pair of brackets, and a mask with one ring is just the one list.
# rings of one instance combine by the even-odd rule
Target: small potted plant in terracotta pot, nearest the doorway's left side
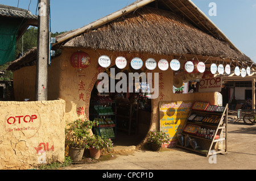
[[95,159],[100,158],[102,149],[109,150],[113,147],[112,140],[108,138],[102,139],[100,136],[95,134],[90,136],[87,141],[90,157]]

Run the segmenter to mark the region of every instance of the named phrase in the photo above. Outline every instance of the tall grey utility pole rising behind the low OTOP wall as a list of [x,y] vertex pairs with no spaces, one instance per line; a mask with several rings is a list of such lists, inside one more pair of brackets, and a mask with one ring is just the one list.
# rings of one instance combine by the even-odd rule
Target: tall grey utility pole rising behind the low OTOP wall
[[49,59],[49,0],[38,4],[38,45],[36,61],[36,100],[47,100]]

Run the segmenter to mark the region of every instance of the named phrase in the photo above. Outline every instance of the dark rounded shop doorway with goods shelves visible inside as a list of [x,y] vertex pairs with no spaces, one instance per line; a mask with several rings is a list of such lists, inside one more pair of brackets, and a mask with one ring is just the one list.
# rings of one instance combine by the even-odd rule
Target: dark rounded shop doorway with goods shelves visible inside
[[[115,70],[115,74],[121,71],[125,73],[128,81],[130,69],[120,70],[115,66],[112,68]],[[121,80],[114,79],[114,75],[110,74],[110,69],[107,69],[105,73],[109,75],[109,82],[114,81],[115,85]],[[100,82],[101,80],[98,80],[92,90],[89,108],[90,120],[104,121],[105,124],[110,120],[110,123],[113,121],[115,126],[109,127],[106,125],[105,127],[100,125],[101,128],[94,129],[93,133],[112,138],[116,146],[139,145],[146,137],[151,123],[150,94],[148,94],[149,91],[142,91],[142,89],[148,89],[147,82],[140,81],[139,85],[134,84],[132,92],[129,92],[129,86],[127,86],[127,90],[124,92],[99,93],[97,85]],[[127,85],[129,85],[128,82]],[[109,110],[109,112],[106,110]],[[104,111],[105,113],[102,113]],[[108,113],[109,115],[106,115]],[[114,137],[110,132],[114,133]]]

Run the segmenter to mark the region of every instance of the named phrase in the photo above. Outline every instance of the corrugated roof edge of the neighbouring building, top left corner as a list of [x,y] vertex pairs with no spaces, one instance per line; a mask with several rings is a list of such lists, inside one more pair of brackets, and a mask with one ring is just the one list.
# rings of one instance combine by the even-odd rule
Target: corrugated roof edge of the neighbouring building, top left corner
[[0,5],[0,16],[7,16],[11,18],[38,19],[38,16],[32,15],[28,10],[7,5]]

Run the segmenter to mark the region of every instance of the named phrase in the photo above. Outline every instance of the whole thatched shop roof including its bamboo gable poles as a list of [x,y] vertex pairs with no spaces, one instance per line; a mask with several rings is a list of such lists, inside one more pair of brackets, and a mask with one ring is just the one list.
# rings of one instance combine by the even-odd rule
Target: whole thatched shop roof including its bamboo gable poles
[[[190,0],[138,0],[85,27],[57,36],[55,46],[195,54],[253,62]],[[16,60],[9,69],[23,66],[24,60],[26,57]]]

